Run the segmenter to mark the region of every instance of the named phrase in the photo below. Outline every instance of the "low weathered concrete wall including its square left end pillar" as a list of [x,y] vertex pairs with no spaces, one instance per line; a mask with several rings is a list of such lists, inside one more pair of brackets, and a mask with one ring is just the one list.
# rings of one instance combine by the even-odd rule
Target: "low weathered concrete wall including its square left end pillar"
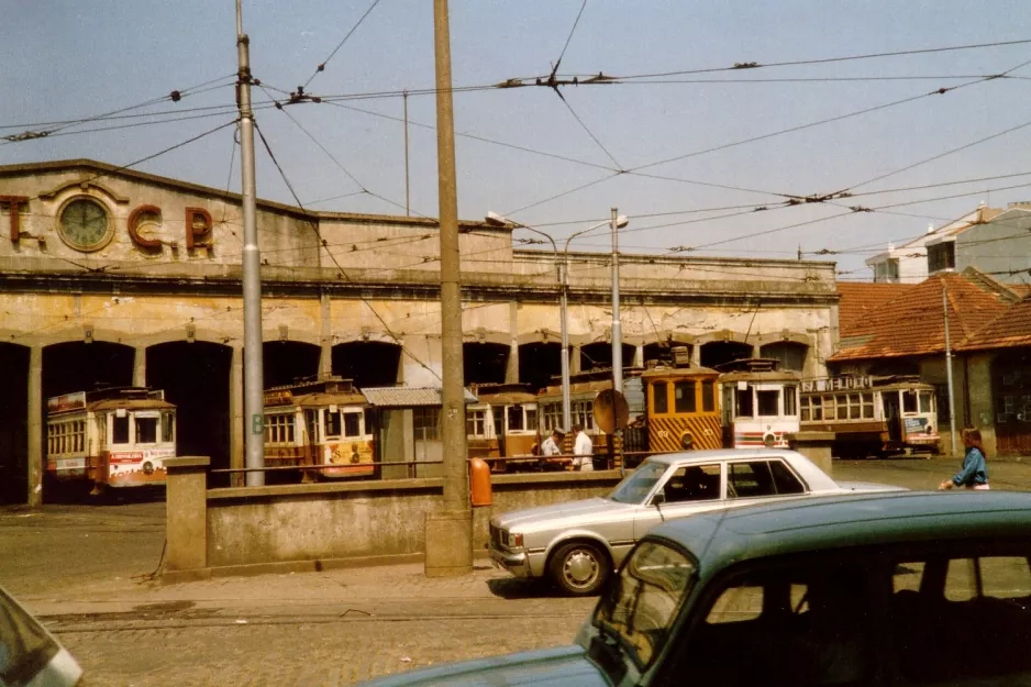
[[[168,581],[421,559],[426,519],[443,509],[435,478],[204,490],[198,467],[168,473],[168,538],[177,542],[166,559]],[[474,553],[486,547],[494,513],[601,496],[620,478],[618,470],[492,476],[492,505],[473,509]],[[196,525],[201,517],[204,535],[196,527],[178,531],[177,523]]]

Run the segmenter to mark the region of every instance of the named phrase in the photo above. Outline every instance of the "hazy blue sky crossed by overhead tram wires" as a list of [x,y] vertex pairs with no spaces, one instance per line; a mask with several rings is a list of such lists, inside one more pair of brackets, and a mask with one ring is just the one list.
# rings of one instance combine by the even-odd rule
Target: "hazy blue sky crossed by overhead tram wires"
[[[256,88],[255,101],[282,100],[282,91],[307,82],[373,1],[244,0],[254,75],[269,87]],[[581,4],[452,0],[455,88],[546,75]],[[0,135],[49,130],[54,126],[47,122],[136,106],[174,89],[188,95],[177,103],[166,100],[124,114],[181,111],[181,117],[196,117],[77,124],[46,138],[0,143],[0,164],[74,157],[129,164],[234,118],[231,109],[198,110],[233,103],[233,0],[0,0]],[[1031,20],[1017,1],[588,0],[559,74],[640,76],[1029,38]],[[631,217],[621,236],[627,251],[663,254],[684,246],[696,248],[696,255],[790,258],[801,245],[807,253],[842,251],[829,258],[838,261],[842,278],[868,278],[863,259],[888,241],[919,235],[980,201],[1005,207],[1031,199],[1031,175],[939,186],[1031,171],[1031,125],[976,143],[1031,122],[1031,65],[1009,73],[1021,78],[979,78],[1028,60],[1031,43],[627,79],[565,87],[568,107],[547,88],[456,92],[456,129],[478,137],[457,140],[459,214],[479,219],[494,210],[562,240],[606,219],[616,206]],[[209,81],[210,90],[189,90]],[[307,88],[332,103],[282,111],[266,107],[256,115],[306,207],[403,214],[398,92],[433,84],[432,2],[380,0]],[[334,98],[372,92],[387,95]],[[891,104],[906,99],[911,100]],[[412,95],[408,104],[412,211],[435,215],[435,132],[419,125],[434,124],[434,98]],[[874,108],[879,109],[700,153]],[[130,123],[143,125],[109,129]],[[76,133],[84,130],[106,131]],[[136,168],[239,190],[232,131],[223,129]],[[293,202],[258,145],[258,195]],[[619,169],[653,177],[613,171]],[[912,188],[918,186],[933,188]],[[835,200],[841,207],[780,207],[788,195],[842,189],[908,190]],[[961,193],[967,195],[954,197]],[[340,198],[323,200],[334,197]],[[851,212],[850,206],[879,210]],[[751,211],[762,207],[768,210]],[[717,208],[734,209],[699,212]],[[836,214],[843,217],[823,219]],[[750,236],[760,232],[767,233]],[[599,233],[574,245],[605,250],[606,241]]]

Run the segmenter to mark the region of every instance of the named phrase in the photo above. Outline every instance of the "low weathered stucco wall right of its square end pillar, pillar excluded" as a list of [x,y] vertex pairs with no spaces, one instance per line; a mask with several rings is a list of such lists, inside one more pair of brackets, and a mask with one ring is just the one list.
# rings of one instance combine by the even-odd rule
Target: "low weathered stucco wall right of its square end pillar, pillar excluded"
[[[499,475],[494,505],[474,509],[474,551],[496,512],[608,494],[618,472]],[[442,507],[440,479],[211,489],[206,567],[406,556],[425,550],[425,519]]]

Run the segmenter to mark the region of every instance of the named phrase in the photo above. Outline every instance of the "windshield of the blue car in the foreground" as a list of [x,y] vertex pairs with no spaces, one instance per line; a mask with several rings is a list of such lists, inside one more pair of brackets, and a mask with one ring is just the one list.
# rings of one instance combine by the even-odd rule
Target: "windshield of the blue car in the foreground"
[[685,554],[645,541],[606,589],[592,624],[639,672],[646,671],[669,639],[694,574],[695,566]]

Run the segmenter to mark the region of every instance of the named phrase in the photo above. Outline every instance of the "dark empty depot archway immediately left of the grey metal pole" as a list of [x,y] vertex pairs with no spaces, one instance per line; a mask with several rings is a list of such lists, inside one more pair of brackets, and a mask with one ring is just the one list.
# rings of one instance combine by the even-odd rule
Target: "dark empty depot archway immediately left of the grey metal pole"
[[[230,346],[206,341],[147,348],[147,386],[177,407],[176,453],[210,456],[212,468],[230,466],[232,365]],[[225,473],[209,476],[209,486],[228,485]]]

